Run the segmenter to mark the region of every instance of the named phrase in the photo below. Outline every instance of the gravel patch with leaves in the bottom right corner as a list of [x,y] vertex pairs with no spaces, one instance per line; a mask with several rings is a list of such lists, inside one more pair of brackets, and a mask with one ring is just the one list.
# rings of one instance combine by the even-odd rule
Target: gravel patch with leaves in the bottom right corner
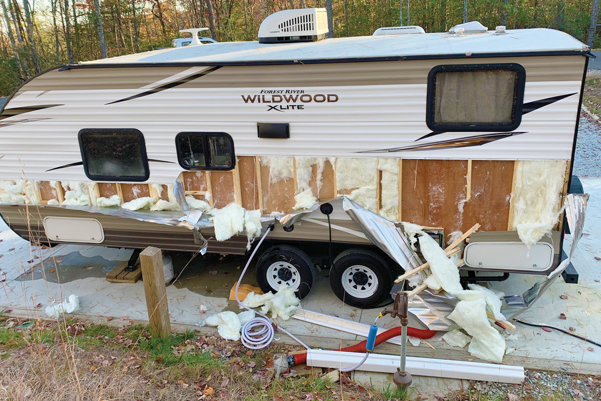
[[[469,391],[448,397],[448,400],[479,400],[473,393],[488,396],[490,400],[599,400],[600,376],[570,376],[564,373],[545,373],[526,370],[523,384],[470,382]],[[470,394],[472,393],[472,394]]]

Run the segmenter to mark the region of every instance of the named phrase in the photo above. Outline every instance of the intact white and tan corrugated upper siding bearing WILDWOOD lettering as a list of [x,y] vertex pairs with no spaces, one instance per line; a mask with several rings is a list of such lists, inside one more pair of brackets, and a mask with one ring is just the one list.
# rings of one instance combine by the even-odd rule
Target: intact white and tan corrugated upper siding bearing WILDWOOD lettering
[[[31,81],[11,100],[10,108],[63,104],[2,121],[48,118],[0,127],[0,179],[87,181],[81,166],[46,172],[81,162],[77,134],[82,128],[136,128],[146,141],[150,162],[148,182],[172,183],[182,168],[177,164],[174,136],[182,131],[228,132],[237,155],[401,157],[429,159],[570,159],[576,123],[584,57],[523,57],[469,60],[469,63],[513,62],[525,66],[525,102],[575,93],[557,103],[526,114],[523,135],[480,147],[426,152],[358,153],[365,150],[415,144],[430,132],[425,123],[426,77],[430,66],[467,63],[468,60],[396,61],[310,66],[222,67],[189,86],[153,93],[139,99],[107,105],[144,90],[152,79],[188,67],[81,69],[77,79],[63,80],[50,72]],[[294,67],[294,73],[290,68]],[[166,70],[172,68],[172,70]],[[156,69],[156,72],[154,71]],[[54,77],[54,78],[53,78]],[[56,85],[51,84],[53,80]],[[50,81],[36,87],[34,82]],[[117,82],[127,88],[89,89],[85,85]],[[391,82],[423,82],[394,84]],[[58,82],[61,82],[58,84]],[[243,88],[237,85],[246,86]],[[378,82],[378,85],[365,85]],[[143,85],[142,85],[143,84]],[[344,85],[343,85],[344,84]],[[69,85],[69,87],[65,87]],[[134,86],[135,86],[134,85]],[[252,85],[254,88],[249,88]],[[261,87],[260,85],[266,85]],[[323,85],[323,86],[319,86]],[[223,87],[222,87],[223,86]],[[227,87],[225,87],[227,86]],[[43,88],[46,88],[46,91]],[[56,88],[61,88],[58,90]],[[337,94],[335,103],[306,103],[304,110],[267,111],[263,103],[244,103],[242,94],[261,89],[297,89],[308,94]],[[491,94],[491,102],[494,96]],[[300,103],[297,103],[300,104]],[[257,138],[257,122],[290,123],[290,138]],[[477,135],[445,133],[419,143]],[[23,173],[22,173],[23,171]]]

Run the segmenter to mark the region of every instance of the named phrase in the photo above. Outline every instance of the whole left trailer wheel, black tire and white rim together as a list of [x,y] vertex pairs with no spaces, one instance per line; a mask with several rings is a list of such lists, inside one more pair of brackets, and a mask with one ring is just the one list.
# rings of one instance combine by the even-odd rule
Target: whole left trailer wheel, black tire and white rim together
[[305,298],[315,281],[310,257],[296,246],[276,245],[267,249],[257,262],[257,283],[264,292],[277,292],[281,284]]

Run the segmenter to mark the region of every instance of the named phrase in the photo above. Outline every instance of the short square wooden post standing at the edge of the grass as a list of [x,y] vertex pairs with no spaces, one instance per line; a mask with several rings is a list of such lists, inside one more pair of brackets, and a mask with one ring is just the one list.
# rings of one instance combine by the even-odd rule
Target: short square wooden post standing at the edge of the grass
[[140,254],[140,266],[144,279],[144,295],[148,310],[148,325],[153,337],[171,335],[167,292],[163,275],[163,257],[159,248],[148,246]]

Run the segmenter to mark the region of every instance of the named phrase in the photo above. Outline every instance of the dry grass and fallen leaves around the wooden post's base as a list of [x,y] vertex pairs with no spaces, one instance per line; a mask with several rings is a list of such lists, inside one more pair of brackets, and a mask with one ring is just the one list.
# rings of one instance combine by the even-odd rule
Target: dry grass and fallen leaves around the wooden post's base
[[240,343],[192,332],[151,340],[142,326],[38,322],[19,328],[14,323],[0,319],[0,400],[383,401],[397,396],[371,393],[348,378],[334,384],[321,374],[293,372],[274,379],[272,358],[284,352],[281,345],[248,352]]

